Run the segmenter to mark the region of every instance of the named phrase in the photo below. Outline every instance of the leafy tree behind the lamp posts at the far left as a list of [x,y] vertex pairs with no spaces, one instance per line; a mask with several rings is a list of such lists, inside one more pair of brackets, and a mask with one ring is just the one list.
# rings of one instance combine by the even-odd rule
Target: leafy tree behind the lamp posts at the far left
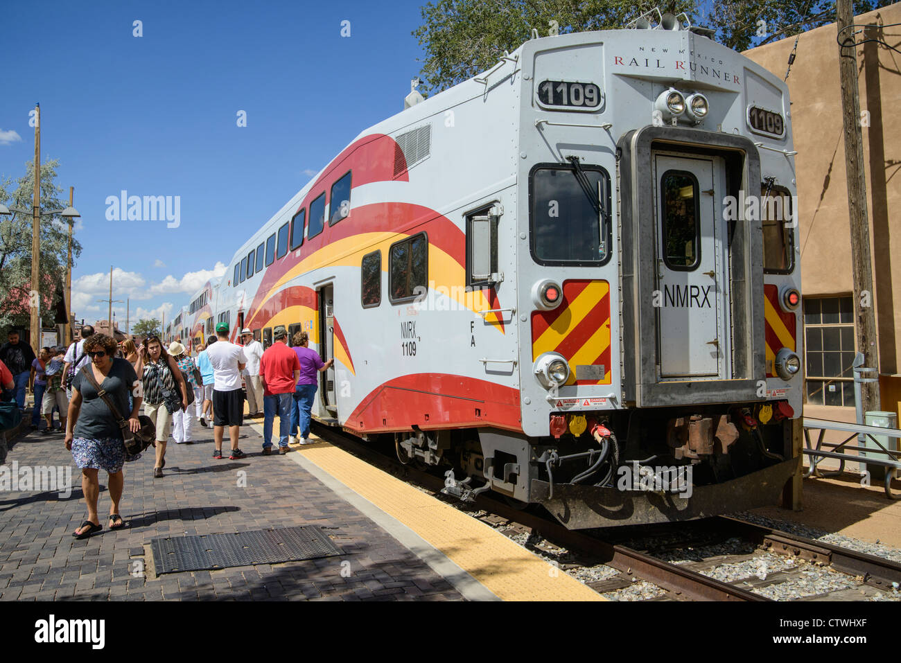
[[[59,161],[41,165],[41,209],[61,209],[62,189],[56,186]],[[0,179],[0,202],[7,207],[32,208],[34,164],[15,183]],[[41,218],[41,325],[56,322],[55,308],[63,297],[66,278],[68,222],[61,217]],[[81,244],[72,238],[72,262],[81,255]],[[13,213],[0,216],[0,329],[28,328],[32,298],[32,216]]]

